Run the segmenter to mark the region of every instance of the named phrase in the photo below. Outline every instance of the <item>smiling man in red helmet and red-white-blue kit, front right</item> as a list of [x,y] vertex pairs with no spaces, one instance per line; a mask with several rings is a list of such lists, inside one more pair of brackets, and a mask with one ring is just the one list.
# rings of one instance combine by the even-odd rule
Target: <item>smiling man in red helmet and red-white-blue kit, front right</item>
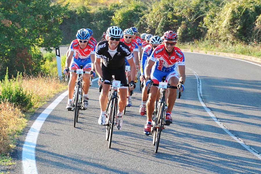
[[[149,58],[148,63],[145,67],[145,78],[146,85],[152,80],[153,83],[159,84],[162,78],[165,76],[165,80],[171,86],[181,85],[181,91],[184,91],[184,82],[186,79],[185,75],[185,59],[183,52],[177,48],[177,34],[173,31],[166,31],[163,35],[164,44],[161,44],[155,48]],[[176,63],[179,64],[180,77],[178,76],[176,70]],[[147,122],[144,127],[144,133],[146,135],[151,134],[151,122],[152,122],[152,113],[154,110],[154,103],[157,97],[158,87],[151,86],[150,93],[148,95],[147,102]],[[172,123],[171,110],[175,104],[177,96],[176,89],[169,89],[169,96],[167,98],[167,112],[166,112],[166,121],[165,124],[169,125]]]

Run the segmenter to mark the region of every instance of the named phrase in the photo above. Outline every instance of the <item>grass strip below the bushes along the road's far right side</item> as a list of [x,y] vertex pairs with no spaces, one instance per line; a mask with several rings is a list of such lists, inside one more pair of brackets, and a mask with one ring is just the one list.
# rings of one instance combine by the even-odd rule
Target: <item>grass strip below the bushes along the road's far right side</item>
[[239,55],[247,55],[252,57],[261,58],[261,44],[251,43],[247,44],[231,44],[225,42],[213,42],[213,41],[193,41],[187,43],[177,42],[177,47],[182,49],[203,50],[203,51],[215,51],[224,53],[233,53]]

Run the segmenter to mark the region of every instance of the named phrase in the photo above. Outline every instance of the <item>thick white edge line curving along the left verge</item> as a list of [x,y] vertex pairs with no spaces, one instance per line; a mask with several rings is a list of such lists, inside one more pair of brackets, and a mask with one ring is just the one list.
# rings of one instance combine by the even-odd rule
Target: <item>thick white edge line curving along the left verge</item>
[[[93,81],[99,78],[93,79]],[[52,112],[52,110],[68,95],[68,90],[58,96],[35,120],[32,124],[29,132],[26,135],[26,139],[23,144],[22,150],[22,164],[24,174],[37,174],[37,167],[35,161],[35,147],[37,143],[37,137],[40,132],[44,121]]]

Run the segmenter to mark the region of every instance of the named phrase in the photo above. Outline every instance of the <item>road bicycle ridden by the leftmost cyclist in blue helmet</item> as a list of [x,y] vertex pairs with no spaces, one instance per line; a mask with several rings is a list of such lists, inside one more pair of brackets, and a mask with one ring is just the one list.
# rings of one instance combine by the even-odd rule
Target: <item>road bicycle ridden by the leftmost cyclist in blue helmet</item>
[[[69,72],[73,72],[77,74],[77,80],[75,81],[75,87],[74,87],[74,92],[73,92],[73,109],[74,111],[74,124],[73,126],[75,127],[76,122],[78,122],[78,117],[79,117],[79,110],[85,110],[83,108],[83,79],[82,76],[83,74],[90,74],[92,75],[92,71],[84,71],[83,66],[80,66],[80,69],[77,70],[69,70]],[[68,79],[68,76],[66,76],[66,81]]]

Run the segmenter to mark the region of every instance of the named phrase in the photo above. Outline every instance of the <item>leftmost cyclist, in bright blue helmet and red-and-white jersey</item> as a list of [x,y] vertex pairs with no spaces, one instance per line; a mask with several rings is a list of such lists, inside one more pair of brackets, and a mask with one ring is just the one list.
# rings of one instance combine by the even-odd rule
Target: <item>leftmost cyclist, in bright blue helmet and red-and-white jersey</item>
[[[64,73],[67,75],[69,67],[71,70],[76,70],[83,66],[84,71],[93,71],[94,73],[94,59],[95,59],[95,45],[89,41],[90,33],[82,28],[77,31],[76,38],[70,44],[70,49],[66,56]],[[70,80],[68,83],[68,103],[66,109],[72,110],[73,108],[73,90],[75,87],[75,81],[77,74],[71,72]],[[83,74],[83,107],[88,107],[88,90],[90,87],[90,74]]]

